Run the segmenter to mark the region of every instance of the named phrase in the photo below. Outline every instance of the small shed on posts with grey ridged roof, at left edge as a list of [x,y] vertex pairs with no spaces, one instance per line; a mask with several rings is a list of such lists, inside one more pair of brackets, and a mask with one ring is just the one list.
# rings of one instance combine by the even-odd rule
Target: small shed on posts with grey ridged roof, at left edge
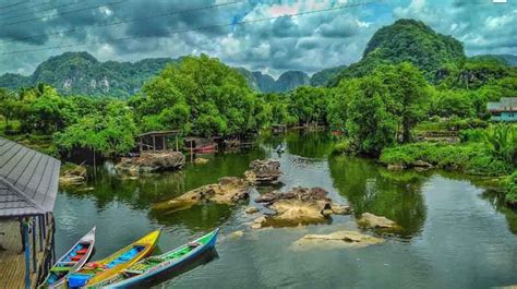
[[56,158],[0,137],[0,276],[7,288],[35,288],[53,263],[60,166]]

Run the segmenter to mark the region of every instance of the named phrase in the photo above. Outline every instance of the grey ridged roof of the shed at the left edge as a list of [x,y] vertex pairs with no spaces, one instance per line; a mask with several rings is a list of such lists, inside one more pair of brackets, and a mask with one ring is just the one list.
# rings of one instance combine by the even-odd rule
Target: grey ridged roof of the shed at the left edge
[[53,210],[61,162],[0,137],[0,217]]

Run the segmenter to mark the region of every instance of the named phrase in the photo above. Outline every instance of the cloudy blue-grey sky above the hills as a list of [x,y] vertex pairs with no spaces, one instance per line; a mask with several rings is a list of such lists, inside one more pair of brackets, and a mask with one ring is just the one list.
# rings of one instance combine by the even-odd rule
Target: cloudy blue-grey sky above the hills
[[517,55],[517,0],[493,1],[0,0],[0,74],[28,75],[65,51],[100,61],[207,53],[274,76],[311,74],[357,62],[398,19],[456,37],[468,56]]

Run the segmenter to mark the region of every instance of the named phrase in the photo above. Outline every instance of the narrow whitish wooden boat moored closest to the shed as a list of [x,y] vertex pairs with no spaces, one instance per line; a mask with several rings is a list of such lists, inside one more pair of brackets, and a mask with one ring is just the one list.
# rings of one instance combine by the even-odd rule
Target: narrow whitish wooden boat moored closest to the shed
[[67,276],[81,269],[89,260],[95,246],[95,227],[87,232],[64,254],[62,255],[45,279],[39,288],[59,288],[64,285]]

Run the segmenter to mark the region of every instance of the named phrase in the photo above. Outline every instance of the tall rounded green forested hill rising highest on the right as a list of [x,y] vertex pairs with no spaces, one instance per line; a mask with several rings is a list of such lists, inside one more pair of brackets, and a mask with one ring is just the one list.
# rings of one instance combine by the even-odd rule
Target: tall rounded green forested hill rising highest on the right
[[435,33],[421,21],[398,20],[378,29],[368,43],[362,59],[341,70],[330,84],[366,75],[383,63],[406,61],[417,65],[429,81],[434,81],[441,68],[459,64],[465,59],[462,44],[452,36]]

